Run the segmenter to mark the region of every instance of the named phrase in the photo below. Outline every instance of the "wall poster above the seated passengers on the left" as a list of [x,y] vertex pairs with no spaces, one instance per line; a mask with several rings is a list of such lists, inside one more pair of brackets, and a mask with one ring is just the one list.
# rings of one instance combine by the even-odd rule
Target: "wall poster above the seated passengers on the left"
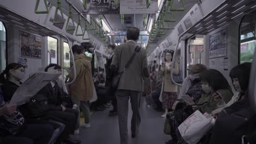
[[20,56],[41,58],[41,53],[41,37],[20,31]]

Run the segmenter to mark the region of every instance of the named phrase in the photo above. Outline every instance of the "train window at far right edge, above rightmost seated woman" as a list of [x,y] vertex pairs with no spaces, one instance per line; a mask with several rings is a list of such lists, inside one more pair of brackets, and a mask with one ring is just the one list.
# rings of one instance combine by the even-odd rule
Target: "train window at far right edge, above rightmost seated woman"
[[252,62],[256,47],[256,11],[246,15],[240,25],[240,63]]

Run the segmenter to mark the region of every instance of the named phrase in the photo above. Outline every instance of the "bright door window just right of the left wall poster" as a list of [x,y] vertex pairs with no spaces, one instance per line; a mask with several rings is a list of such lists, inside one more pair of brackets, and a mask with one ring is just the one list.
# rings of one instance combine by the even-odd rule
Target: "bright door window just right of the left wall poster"
[[[50,62],[48,61],[48,64],[50,63],[58,63],[58,40],[53,37],[47,38],[48,43],[48,53],[50,53]],[[48,55],[49,56],[49,55]]]

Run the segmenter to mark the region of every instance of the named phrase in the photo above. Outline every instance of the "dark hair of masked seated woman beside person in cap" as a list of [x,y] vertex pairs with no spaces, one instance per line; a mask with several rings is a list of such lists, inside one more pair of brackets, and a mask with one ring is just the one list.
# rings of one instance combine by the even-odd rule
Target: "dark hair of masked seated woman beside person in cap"
[[208,82],[209,86],[212,87],[214,91],[218,91],[219,89],[231,89],[228,80],[216,69],[202,71],[200,78],[202,81]]

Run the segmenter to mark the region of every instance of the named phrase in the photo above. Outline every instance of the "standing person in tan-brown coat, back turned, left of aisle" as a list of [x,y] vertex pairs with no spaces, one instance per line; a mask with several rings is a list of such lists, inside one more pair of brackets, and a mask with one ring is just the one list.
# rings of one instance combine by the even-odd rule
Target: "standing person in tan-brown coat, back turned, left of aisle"
[[[90,109],[89,109],[89,100],[93,96],[93,86],[92,86],[92,75],[91,75],[91,58],[86,57],[83,54],[83,48],[79,45],[72,46],[72,51],[74,53],[75,61],[75,70],[77,79],[74,83],[71,84],[71,100],[73,104],[77,104],[78,111],[80,115],[80,108],[84,114],[84,122],[81,124],[82,127],[90,128]],[[70,80],[73,79],[73,69],[69,74]],[[80,116],[77,120],[77,130],[76,133],[79,133],[80,125]]]

